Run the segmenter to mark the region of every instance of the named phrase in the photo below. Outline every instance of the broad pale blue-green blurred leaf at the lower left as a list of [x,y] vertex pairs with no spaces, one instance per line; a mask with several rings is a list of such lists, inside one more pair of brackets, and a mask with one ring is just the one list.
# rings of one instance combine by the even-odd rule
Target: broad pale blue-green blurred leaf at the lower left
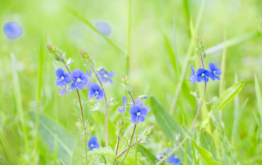
[[[35,113],[31,112],[29,116],[35,122]],[[52,151],[54,151],[57,136],[57,157],[61,158],[65,164],[72,164],[74,136],[70,135],[63,126],[44,115],[39,115],[39,135]]]

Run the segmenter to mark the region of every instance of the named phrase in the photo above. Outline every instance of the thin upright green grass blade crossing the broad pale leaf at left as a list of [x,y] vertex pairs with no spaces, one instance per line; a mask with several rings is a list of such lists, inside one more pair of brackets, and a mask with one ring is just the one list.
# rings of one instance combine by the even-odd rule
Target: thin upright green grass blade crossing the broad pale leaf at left
[[37,140],[38,140],[38,127],[39,127],[39,111],[40,111],[40,98],[41,98],[41,85],[42,85],[42,75],[43,75],[43,46],[40,44],[39,50],[39,67],[38,67],[38,76],[37,76],[37,113],[35,118],[35,135],[34,135],[34,157],[33,162],[35,164],[36,155],[37,155]]

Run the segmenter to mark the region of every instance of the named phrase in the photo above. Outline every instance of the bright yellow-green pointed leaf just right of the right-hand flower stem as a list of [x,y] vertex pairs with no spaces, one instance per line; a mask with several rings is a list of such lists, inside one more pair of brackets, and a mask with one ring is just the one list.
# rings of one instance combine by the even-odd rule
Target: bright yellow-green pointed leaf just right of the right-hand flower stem
[[230,102],[234,98],[234,96],[236,96],[236,94],[239,94],[239,92],[243,88],[244,84],[245,84],[244,81],[241,80],[238,83],[235,83],[234,85],[232,85],[231,87],[226,89],[221,94],[221,96],[219,97],[219,100],[221,100],[221,102],[219,102],[219,104],[218,104],[219,110],[223,109],[225,104]]

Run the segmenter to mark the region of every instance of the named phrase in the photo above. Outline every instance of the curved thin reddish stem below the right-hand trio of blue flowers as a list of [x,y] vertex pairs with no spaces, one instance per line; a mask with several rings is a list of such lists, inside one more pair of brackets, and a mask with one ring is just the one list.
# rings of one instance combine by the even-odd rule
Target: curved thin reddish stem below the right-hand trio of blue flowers
[[[203,68],[204,68],[204,67],[205,67],[205,66],[203,65]],[[204,101],[204,99],[205,99],[206,86],[207,86],[207,83],[205,82],[205,88],[204,88],[203,98],[202,98],[201,103],[200,103],[200,105],[199,105],[199,109],[197,109],[196,115],[194,116],[194,121],[192,122],[192,125],[190,126],[190,131],[193,131],[194,125],[196,124],[196,120],[197,120],[197,118],[199,117],[199,113],[200,113],[201,107],[202,107],[202,105],[203,105],[203,101]],[[173,155],[174,152],[177,151],[177,150],[182,146],[182,144],[185,142],[185,140],[187,140],[187,139],[188,139],[188,137],[186,136],[186,137],[183,139],[183,141],[182,141],[176,148],[174,148],[174,150],[173,150],[170,154],[168,154],[168,155],[166,155],[165,157],[163,157],[163,159],[161,159],[159,162],[157,162],[156,165],[161,164],[165,159],[168,159],[168,157],[170,157],[171,155]]]

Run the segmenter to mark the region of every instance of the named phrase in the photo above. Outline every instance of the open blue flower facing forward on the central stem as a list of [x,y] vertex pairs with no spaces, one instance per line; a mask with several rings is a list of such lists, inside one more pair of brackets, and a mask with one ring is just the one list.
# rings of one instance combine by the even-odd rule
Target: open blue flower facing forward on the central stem
[[143,107],[143,102],[136,100],[135,104],[130,107],[131,122],[137,124],[145,120],[145,116],[150,111],[149,107]]

